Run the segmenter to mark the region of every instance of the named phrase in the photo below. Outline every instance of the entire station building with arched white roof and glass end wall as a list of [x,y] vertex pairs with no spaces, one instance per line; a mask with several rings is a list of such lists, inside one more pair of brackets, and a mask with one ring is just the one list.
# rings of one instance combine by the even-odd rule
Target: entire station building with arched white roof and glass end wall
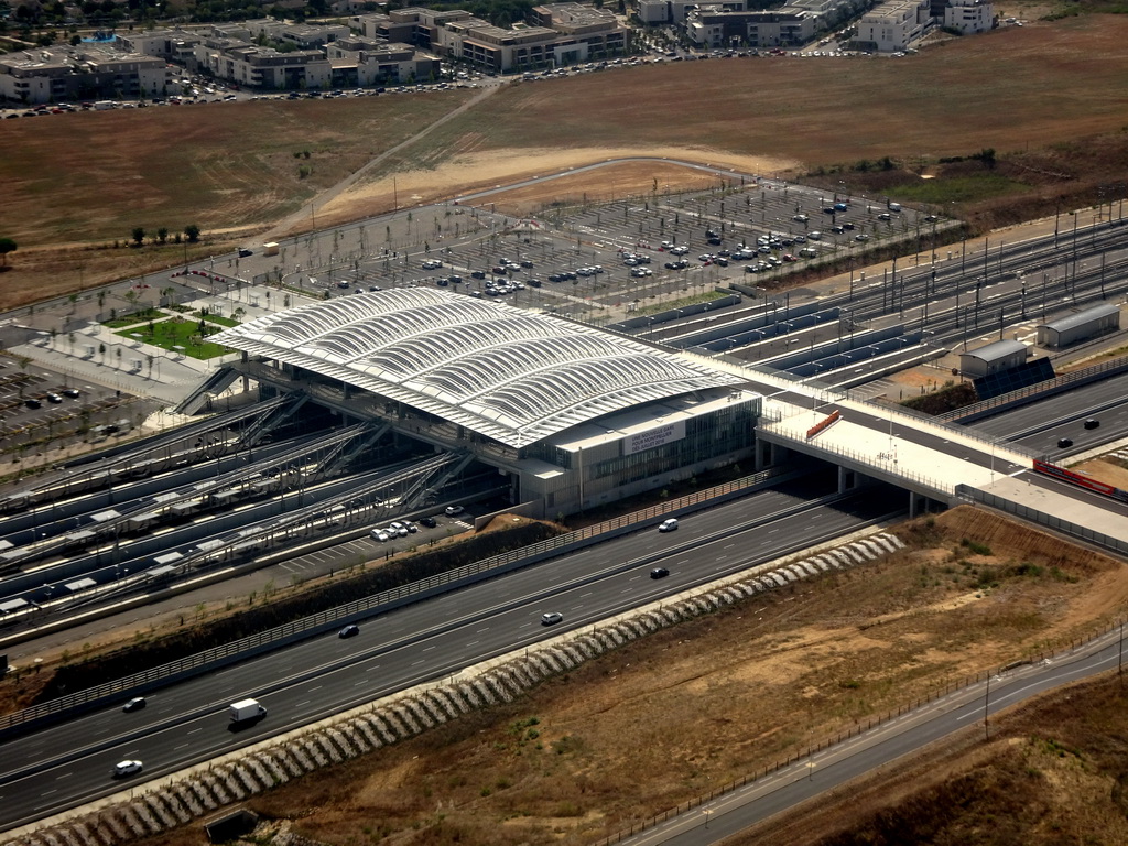
[[305,393],[473,455],[553,517],[751,459],[763,397],[739,370],[431,289],[355,294],[214,338],[264,398]]

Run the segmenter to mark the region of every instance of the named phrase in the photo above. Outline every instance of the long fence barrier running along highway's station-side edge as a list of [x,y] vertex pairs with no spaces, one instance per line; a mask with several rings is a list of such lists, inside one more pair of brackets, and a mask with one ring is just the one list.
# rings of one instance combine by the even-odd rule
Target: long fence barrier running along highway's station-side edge
[[17,733],[20,729],[29,729],[46,721],[92,710],[105,704],[107,700],[123,698],[126,694],[151,690],[173,681],[179,681],[191,676],[215,670],[226,664],[243,661],[280,646],[312,637],[323,632],[332,631],[343,623],[363,619],[377,611],[387,611],[453,588],[473,584],[474,582],[500,575],[510,570],[528,566],[546,558],[580,549],[584,546],[601,543],[617,535],[642,528],[647,523],[658,522],[667,517],[687,513],[705,505],[717,504],[725,500],[741,496],[768,482],[777,481],[784,475],[786,474],[782,470],[770,469],[746,476],[741,479],[671,500],[661,505],[652,505],[642,511],[623,514],[611,520],[521,547],[520,549],[513,549],[444,573],[438,573],[428,579],[373,593],[353,602],[302,617],[275,628],[197,652],[193,655],[187,655],[143,672],[114,679],[113,681],[39,703],[11,714],[2,714],[0,715],[0,737]]

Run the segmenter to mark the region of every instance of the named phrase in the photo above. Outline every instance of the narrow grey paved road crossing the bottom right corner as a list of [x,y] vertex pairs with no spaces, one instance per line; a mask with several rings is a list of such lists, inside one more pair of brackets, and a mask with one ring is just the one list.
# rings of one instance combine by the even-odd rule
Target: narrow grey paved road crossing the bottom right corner
[[1114,629],[1052,660],[992,676],[626,837],[623,843],[638,846],[720,843],[936,740],[970,729],[989,731],[989,726],[984,728],[985,705],[989,714],[995,714],[1061,685],[1116,669],[1119,649],[1120,632]]

